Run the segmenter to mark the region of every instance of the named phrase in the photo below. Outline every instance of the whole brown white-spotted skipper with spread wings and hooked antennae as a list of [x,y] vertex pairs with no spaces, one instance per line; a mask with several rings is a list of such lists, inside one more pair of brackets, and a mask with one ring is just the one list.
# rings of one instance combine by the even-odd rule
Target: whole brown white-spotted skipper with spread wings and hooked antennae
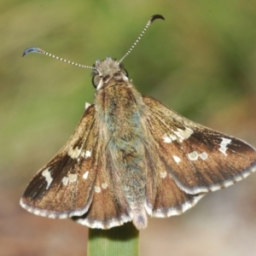
[[181,214],[208,192],[224,189],[256,170],[249,144],[195,124],[133,86],[121,61],[108,57],[93,67],[94,104],[72,137],[32,178],[20,200],[28,212],[73,218],[90,228],[110,229],[148,217]]

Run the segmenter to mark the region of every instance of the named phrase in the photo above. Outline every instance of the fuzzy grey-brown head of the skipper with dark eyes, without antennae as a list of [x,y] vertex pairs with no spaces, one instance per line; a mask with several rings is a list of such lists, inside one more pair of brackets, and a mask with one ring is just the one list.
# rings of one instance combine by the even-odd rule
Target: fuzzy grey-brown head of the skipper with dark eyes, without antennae
[[93,66],[92,84],[96,90],[100,90],[113,80],[115,82],[128,82],[128,73],[119,63],[111,57],[105,61],[96,61]]

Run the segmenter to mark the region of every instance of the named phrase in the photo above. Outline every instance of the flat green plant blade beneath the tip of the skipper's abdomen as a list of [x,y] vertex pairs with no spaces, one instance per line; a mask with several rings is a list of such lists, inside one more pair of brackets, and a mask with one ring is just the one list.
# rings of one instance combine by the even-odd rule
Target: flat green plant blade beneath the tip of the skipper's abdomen
[[139,255],[139,231],[131,222],[110,230],[89,230],[87,256],[113,255]]

